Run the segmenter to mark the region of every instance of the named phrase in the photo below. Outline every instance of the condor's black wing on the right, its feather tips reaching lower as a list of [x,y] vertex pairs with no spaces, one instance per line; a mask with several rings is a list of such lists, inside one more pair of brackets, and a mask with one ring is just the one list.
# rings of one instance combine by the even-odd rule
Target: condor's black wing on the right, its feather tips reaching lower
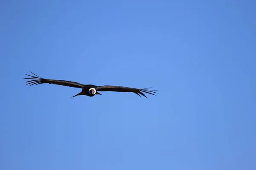
[[117,91],[117,92],[133,92],[137,95],[142,95],[146,98],[148,98],[147,96],[145,96],[145,94],[143,93],[147,93],[147,94],[152,94],[155,95],[157,94],[157,90],[147,90],[148,88],[128,88],[128,87],[123,87],[123,86],[114,86],[114,85],[103,85],[103,86],[98,86],[96,88],[96,91]]

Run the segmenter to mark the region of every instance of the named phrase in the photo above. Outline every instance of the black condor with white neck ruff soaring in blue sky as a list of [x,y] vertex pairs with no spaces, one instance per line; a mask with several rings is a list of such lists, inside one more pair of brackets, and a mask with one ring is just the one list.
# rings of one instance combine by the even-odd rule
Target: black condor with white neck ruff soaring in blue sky
[[[114,85],[103,85],[103,86],[83,85],[78,82],[71,82],[71,81],[66,81],[66,80],[44,79],[42,77],[35,75],[34,73],[32,73],[32,74],[33,75],[25,74],[25,75],[29,76],[29,78],[24,78],[24,79],[29,79],[29,81],[26,82],[27,83],[26,85],[31,86],[31,85],[39,85],[39,84],[48,83],[48,84],[54,84],[54,85],[64,85],[64,86],[69,86],[69,87],[73,87],[73,88],[81,88],[82,91],[79,94],[76,94],[75,96],[86,95],[86,96],[93,97],[96,94],[102,95],[99,93],[99,91],[133,92],[139,96],[142,95],[146,98],[148,98],[148,97],[145,96],[145,93],[152,94],[152,95],[157,94],[157,92],[156,92],[157,90],[148,90],[149,88],[141,88],[140,89],[140,88],[129,88],[129,87],[123,87],[123,86],[114,86]],[[73,97],[75,97],[75,96],[73,96]]]

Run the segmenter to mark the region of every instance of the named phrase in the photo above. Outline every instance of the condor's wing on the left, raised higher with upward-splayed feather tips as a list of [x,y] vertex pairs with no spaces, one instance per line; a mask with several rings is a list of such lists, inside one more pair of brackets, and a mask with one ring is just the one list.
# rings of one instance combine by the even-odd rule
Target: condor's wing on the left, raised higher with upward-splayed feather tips
[[55,84],[55,85],[69,86],[69,87],[73,87],[73,88],[84,88],[84,85],[82,85],[78,82],[70,82],[70,81],[66,81],[66,80],[44,79],[42,77],[35,75],[34,73],[32,73],[32,74],[34,76],[26,74],[27,76],[29,76],[29,78],[24,78],[24,79],[29,79],[29,81],[27,81],[26,85],[31,86],[31,85],[39,85],[39,84],[49,83],[49,84]]

